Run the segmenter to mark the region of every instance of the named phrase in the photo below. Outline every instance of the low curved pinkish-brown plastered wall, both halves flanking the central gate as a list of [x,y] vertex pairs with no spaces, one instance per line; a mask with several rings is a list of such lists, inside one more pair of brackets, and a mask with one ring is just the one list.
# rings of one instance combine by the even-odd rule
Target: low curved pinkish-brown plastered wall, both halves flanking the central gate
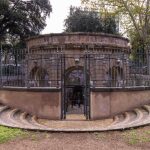
[[[41,118],[61,119],[61,90],[38,88],[3,88],[0,103],[18,108]],[[150,88],[91,89],[91,119],[112,117],[145,104],[150,104]]]

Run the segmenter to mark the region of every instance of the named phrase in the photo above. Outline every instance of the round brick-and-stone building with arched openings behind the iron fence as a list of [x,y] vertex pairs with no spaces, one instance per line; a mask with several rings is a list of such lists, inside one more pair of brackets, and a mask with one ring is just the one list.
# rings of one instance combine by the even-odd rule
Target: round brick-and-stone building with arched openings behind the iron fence
[[90,89],[128,84],[128,39],[102,33],[62,33],[27,40],[28,87],[60,88],[62,113],[89,118]]

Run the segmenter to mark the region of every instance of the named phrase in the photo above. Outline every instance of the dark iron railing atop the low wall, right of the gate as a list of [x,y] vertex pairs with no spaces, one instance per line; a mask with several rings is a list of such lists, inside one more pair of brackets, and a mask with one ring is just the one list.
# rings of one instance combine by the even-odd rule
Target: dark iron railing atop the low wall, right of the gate
[[150,55],[115,51],[90,54],[90,85],[97,87],[150,86]]

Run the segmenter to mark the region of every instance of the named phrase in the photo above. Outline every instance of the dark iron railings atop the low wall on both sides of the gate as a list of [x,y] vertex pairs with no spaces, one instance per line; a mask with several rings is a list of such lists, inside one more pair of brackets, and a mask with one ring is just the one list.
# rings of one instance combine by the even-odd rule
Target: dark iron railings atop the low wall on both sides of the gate
[[[84,56],[84,57],[83,57]],[[47,87],[61,88],[65,74],[64,59],[70,57],[59,48],[30,51],[9,50],[0,53],[1,87]],[[68,58],[69,59],[69,58]],[[71,55],[78,63],[80,54]],[[87,59],[88,63],[83,63]],[[97,87],[150,86],[150,53],[137,52],[131,57],[121,50],[89,49],[82,53],[83,68],[89,72],[88,85]],[[86,65],[86,66],[85,66]],[[67,64],[66,64],[67,66]],[[80,67],[81,67],[80,66]],[[71,67],[71,66],[70,66]]]

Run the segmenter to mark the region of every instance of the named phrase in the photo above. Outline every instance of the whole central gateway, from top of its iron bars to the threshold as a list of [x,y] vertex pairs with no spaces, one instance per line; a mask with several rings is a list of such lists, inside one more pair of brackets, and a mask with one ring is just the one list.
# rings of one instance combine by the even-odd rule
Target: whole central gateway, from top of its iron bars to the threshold
[[[74,56],[65,56],[63,61],[62,119],[67,119],[70,115],[82,115],[84,119],[89,119],[90,80],[87,57],[80,56],[76,59]],[[72,64],[70,67],[69,63]]]

